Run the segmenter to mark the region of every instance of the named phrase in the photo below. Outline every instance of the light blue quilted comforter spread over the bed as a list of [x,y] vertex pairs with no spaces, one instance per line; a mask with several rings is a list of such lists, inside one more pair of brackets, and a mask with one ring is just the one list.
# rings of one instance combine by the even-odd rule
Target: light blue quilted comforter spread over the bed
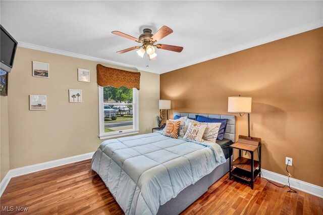
[[156,214],[159,205],[226,162],[220,145],[162,132],[103,141],[92,170],[126,214]]

